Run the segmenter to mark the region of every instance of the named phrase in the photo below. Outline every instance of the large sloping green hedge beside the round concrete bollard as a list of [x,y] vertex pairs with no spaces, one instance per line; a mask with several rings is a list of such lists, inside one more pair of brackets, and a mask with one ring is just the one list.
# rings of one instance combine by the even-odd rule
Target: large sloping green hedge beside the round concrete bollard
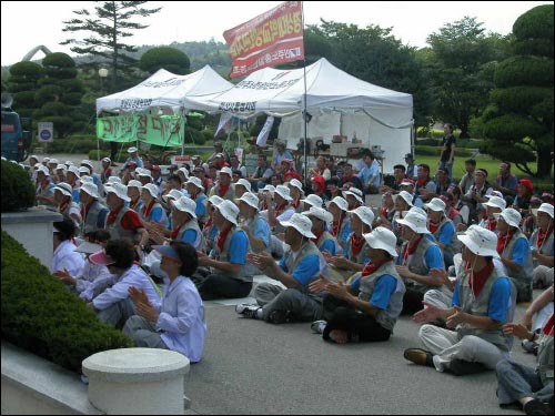
[[132,346],[3,231],[1,267],[3,339],[77,373],[92,354]]

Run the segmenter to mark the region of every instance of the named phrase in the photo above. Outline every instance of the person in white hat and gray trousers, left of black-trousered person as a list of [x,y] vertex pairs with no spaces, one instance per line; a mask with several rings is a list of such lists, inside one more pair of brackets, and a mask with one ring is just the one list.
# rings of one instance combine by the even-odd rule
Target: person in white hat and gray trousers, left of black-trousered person
[[244,317],[273,324],[313,322],[322,316],[322,297],[310,293],[309,284],[326,273],[326,262],[311,241],[312,222],[302,214],[293,214],[283,222],[287,248],[279,264],[269,254],[249,254],[252,262],[266,276],[285,286],[261,283],[254,290],[256,305],[240,304],[235,312]]

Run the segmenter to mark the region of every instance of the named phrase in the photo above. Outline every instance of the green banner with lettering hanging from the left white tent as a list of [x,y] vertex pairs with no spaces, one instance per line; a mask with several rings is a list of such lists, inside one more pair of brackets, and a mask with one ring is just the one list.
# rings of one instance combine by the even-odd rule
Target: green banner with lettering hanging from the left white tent
[[180,115],[132,113],[97,119],[97,138],[110,142],[181,146],[184,129],[185,119]]

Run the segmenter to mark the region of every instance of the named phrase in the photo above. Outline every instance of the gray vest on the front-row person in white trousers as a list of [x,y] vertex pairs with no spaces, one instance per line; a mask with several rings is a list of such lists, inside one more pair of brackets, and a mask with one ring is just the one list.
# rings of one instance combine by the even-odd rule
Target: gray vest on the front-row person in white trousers
[[[478,297],[474,298],[474,293],[472,292],[472,288],[470,286],[470,272],[468,271],[463,272],[458,277],[461,282],[458,287],[460,290],[458,295],[461,300],[462,310],[475,316],[487,316],[492,287],[500,277],[504,276],[497,271],[497,268],[494,268],[492,274],[487,278],[486,283],[484,284],[484,287],[482,288],[482,292],[480,293]],[[513,316],[516,308],[516,290],[511,280],[509,283],[511,283],[511,300],[508,302],[508,308],[505,322],[513,321]],[[513,336],[504,335],[503,329],[501,327],[498,329],[487,331],[487,329],[475,328],[465,323],[458,325],[456,329],[458,332],[460,338],[462,338],[465,335],[475,335],[484,341],[487,341],[488,343],[492,343],[493,345],[503,351],[511,351],[511,347],[513,345]]]

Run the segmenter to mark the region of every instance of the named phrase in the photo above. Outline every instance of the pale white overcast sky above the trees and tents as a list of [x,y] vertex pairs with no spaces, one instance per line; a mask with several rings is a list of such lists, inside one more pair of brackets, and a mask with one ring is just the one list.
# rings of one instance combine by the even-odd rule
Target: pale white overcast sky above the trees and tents
[[[163,45],[212,38],[224,42],[222,33],[226,29],[249,21],[281,2],[149,1],[144,7],[162,7],[162,10],[149,18],[137,19],[150,26],[125,38],[125,42]],[[59,44],[70,37],[70,32],[62,31],[63,21],[77,18],[74,10],[92,11],[93,4],[92,1],[1,1],[1,64],[21,61],[40,44],[52,52],[73,55],[69,45]],[[431,33],[465,16],[477,18],[488,32],[508,34],[514,21],[538,4],[553,4],[553,1],[305,1],[304,21],[305,24],[317,24],[320,19],[324,19],[360,28],[369,24],[393,28],[393,35],[404,44],[424,48]],[[42,58],[42,53],[36,58]]]

